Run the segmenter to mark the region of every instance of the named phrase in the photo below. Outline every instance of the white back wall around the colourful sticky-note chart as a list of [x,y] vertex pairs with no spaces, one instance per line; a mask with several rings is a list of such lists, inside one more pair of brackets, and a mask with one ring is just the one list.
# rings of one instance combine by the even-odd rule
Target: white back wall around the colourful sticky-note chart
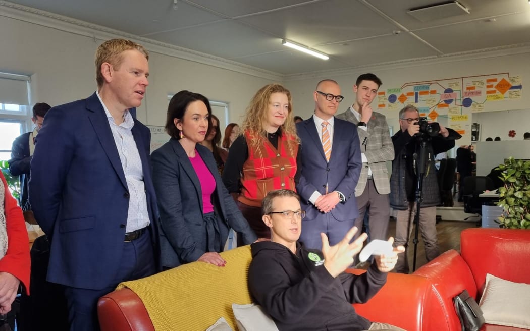
[[[389,50],[391,51],[391,50]],[[530,59],[530,53],[519,53],[516,55],[503,55],[496,57],[480,58],[483,55],[476,55],[476,57],[462,57],[460,60],[441,58],[437,61],[419,61],[417,64],[405,65],[392,65],[386,67],[373,67],[373,68],[362,68],[357,72],[351,71],[347,74],[341,73],[340,71],[334,74],[327,75],[314,75],[312,78],[305,79],[292,79],[285,82],[285,85],[293,94],[293,103],[296,114],[301,115],[303,118],[310,117],[313,113],[315,104],[313,101],[312,93],[315,90],[316,84],[319,80],[324,78],[330,78],[336,80],[341,86],[342,95],[345,99],[340,104],[338,113],[341,113],[348,109],[348,107],[354,101],[354,93],[352,87],[355,84],[355,79],[363,73],[374,73],[383,81],[383,85],[380,91],[386,88],[392,88],[401,86],[407,82],[423,82],[429,80],[440,80],[449,79],[455,77],[465,77],[474,75],[488,75],[497,73],[509,73],[510,76],[519,75],[522,77],[523,93],[519,100],[510,100],[502,102],[488,102],[487,108],[483,113],[473,113],[473,122],[482,122],[481,124],[490,130],[487,136],[484,136],[482,131],[482,137],[489,136],[501,136],[507,137],[504,124],[499,127],[499,121],[497,116],[492,116],[491,119],[497,121],[497,123],[487,123],[489,121],[489,111],[497,109],[502,110],[525,110],[515,113],[509,113],[506,111],[497,112],[498,117],[502,119],[500,122],[519,122],[517,124],[517,132],[520,132],[520,136],[517,139],[522,139],[522,133],[530,131],[530,128],[524,129],[526,123],[530,122],[530,91],[525,89],[525,78],[530,77],[530,66],[528,66],[528,59]],[[375,104],[375,101],[374,101]],[[373,108],[374,110],[376,107]],[[498,108],[497,108],[498,107]],[[388,125],[393,126],[394,132],[399,129],[398,122],[398,111],[381,111],[387,117]],[[506,124],[511,127],[509,124]],[[514,127],[515,128],[515,127]],[[481,127],[481,130],[483,127]],[[504,132],[506,131],[506,132]],[[493,133],[495,133],[493,135]],[[502,138],[502,137],[501,137]]]

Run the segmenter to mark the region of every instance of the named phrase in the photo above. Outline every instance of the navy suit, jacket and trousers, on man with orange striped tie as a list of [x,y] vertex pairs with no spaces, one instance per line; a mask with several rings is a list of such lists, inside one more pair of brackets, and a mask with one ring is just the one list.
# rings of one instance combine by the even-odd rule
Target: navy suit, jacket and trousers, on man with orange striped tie
[[[302,201],[306,217],[302,223],[300,240],[309,248],[321,248],[320,232],[328,235],[330,245],[337,244],[346,232],[354,226],[359,216],[355,187],[361,171],[361,151],[355,124],[334,119],[333,145],[329,162],[326,162],[324,149],[313,117],[296,124],[301,147],[298,154],[299,180],[296,191]],[[339,202],[329,213],[319,211],[310,201],[313,192],[321,194],[339,191],[346,201]]]

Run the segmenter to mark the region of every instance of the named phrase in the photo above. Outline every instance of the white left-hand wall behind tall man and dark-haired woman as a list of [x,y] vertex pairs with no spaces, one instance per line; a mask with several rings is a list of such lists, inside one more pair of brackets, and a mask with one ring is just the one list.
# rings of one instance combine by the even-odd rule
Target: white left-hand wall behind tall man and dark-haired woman
[[[96,90],[94,55],[101,37],[90,38],[0,15],[0,40],[0,71],[31,76],[32,104],[63,104],[83,99]],[[145,124],[163,125],[167,95],[180,90],[227,102],[229,120],[240,122],[253,94],[271,82],[146,47],[150,51],[149,86],[146,99],[137,110],[138,119]]]

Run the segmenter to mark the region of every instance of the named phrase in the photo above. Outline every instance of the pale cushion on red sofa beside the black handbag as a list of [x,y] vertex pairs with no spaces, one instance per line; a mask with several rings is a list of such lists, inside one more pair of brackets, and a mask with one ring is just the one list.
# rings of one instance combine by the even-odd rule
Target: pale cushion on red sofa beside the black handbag
[[487,324],[530,329],[529,298],[530,284],[487,274],[479,306]]

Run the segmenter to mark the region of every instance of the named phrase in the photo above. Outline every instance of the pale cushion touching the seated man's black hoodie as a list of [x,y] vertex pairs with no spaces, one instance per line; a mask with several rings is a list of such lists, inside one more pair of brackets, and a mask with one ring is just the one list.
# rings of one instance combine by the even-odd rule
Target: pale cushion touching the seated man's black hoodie
[[235,323],[239,331],[278,331],[276,324],[259,305],[232,304]]

